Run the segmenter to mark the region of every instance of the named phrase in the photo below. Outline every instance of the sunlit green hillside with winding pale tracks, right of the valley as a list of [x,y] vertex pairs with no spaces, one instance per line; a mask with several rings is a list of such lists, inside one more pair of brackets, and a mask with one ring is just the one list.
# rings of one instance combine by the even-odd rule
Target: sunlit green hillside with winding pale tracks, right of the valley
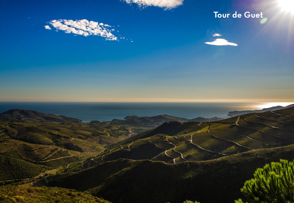
[[89,166],[128,158],[166,163],[203,161],[294,143],[294,107],[216,122],[166,122],[88,160]]

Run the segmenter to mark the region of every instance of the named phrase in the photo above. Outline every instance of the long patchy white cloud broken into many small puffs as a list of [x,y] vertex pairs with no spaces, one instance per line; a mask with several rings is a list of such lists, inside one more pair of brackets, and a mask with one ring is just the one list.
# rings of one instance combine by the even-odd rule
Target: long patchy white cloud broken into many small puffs
[[[56,30],[65,31],[65,33],[73,33],[76,35],[98,35],[106,38],[106,40],[118,40],[116,36],[114,36],[111,31],[114,31],[110,25],[98,23],[95,21],[88,21],[86,19],[83,20],[52,20],[49,22],[51,26],[56,28]],[[51,27],[46,25],[45,29],[51,30]]]

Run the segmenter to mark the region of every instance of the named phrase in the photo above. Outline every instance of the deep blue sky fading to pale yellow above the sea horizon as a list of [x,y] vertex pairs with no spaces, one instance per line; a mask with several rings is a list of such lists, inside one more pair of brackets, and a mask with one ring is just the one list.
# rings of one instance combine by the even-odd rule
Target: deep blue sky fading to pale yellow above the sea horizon
[[[182,5],[2,0],[0,101],[294,101],[294,10],[278,0],[165,1]],[[118,40],[56,31],[59,19],[108,24]],[[205,43],[217,38],[238,46]]]

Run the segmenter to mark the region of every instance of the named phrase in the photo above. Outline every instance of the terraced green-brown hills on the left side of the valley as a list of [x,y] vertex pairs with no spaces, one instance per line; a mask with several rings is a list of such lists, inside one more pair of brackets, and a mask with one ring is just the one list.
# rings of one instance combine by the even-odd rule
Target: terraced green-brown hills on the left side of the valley
[[60,172],[128,138],[124,129],[107,123],[81,123],[20,109],[1,116],[9,120],[0,121],[0,181],[31,178],[53,169]]

